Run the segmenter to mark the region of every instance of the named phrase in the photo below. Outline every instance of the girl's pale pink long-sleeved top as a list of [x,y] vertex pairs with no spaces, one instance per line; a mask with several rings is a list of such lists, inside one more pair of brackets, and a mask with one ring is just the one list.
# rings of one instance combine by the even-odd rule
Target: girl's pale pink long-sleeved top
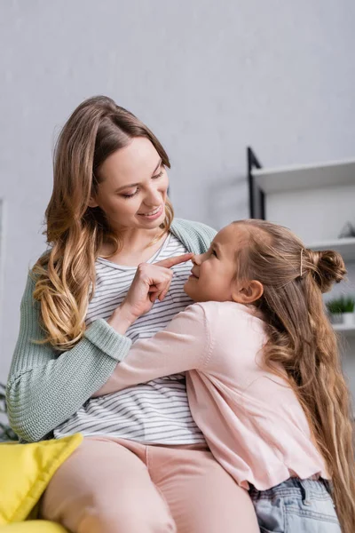
[[241,487],[270,489],[295,475],[327,478],[296,394],[261,366],[265,341],[264,322],[247,306],[193,304],[165,330],[133,344],[94,395],[188,370],[193,418]]

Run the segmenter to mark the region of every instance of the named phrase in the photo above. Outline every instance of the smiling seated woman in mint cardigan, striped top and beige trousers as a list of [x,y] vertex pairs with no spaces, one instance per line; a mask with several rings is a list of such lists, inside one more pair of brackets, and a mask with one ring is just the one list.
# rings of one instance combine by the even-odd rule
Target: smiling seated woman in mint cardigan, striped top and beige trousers
[[[205,253],[216,234],[173,220],[169,168],[152,131],[103,96],[75,109],[57,143],[49,249],[28,274],[7,398],[23,441],[84,435],[41,508],[73,532],[229,533],[241,513],[252,524],[243,531],[258,530],[250,498],[193,421],[184,374],[92,397],[132,341],[191,303],[189,252]],[[164,282],[122,338],[114,324],[142,263]]]

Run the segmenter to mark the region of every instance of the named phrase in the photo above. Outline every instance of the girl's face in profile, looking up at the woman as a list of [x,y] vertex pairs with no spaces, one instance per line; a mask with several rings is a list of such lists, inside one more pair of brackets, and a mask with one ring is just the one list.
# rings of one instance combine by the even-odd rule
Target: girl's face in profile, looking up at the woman
[[192,274],[185,282],[184,290],[195,302],[233,301],[239,231],[232,224],[224,227],[206,253],[193,256]]

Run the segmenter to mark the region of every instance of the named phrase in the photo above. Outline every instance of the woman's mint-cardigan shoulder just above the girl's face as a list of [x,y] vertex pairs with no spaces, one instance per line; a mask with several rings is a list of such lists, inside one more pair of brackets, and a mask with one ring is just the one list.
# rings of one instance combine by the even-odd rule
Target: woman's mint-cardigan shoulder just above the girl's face
[[193,253],[204,253],[208,250],[217,234],[217,231],[207,224],[186,219],[174,219],[170,231]]

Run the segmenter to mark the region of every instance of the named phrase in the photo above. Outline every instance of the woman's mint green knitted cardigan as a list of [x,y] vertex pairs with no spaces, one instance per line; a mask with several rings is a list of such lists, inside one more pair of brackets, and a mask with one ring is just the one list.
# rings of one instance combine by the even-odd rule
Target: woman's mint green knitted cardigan
[[[184,219],[173,221],[171,233],[193,253],[206,251],[216,235],[211,227]],[[51,437],[55,427],[106,383],[131,344],[103,319],[92,322],[74,348],[60,356],[49,344],[34,344],[33,339],[43,338],[34,289],[35,282],[28,274],[20,305],[20,334],[6,387],[10,424],[24,442]]]

